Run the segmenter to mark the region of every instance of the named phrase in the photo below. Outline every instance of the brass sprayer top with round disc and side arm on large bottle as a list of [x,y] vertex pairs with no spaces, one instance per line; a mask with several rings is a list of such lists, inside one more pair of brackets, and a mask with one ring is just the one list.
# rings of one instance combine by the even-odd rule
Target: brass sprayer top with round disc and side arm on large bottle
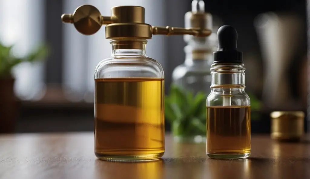
[[78,7],[73,14],[63,14],[61,19],[65,23],[73,23],[82,34],[95,34],[102,25],[105,27],[107,39],[134,38],[151,39],[152,35],[183,35],[189,34],[205,37],[211,34],[210,29],[156,27],[144,23],[144,7],[117,6],[111,8],[111,16],[101,16],[100,11],[91,5]]

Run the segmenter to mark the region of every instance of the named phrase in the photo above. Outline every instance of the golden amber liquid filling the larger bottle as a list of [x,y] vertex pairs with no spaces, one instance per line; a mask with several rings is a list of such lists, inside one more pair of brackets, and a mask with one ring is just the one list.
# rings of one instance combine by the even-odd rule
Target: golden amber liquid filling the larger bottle
[[150,160],[164,154],[164,80],[95,79],[95,154]]

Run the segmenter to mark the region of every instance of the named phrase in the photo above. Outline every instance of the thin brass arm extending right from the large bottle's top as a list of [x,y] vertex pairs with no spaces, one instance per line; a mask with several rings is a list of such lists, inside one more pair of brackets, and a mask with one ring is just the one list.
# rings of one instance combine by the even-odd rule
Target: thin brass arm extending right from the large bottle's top
[[197,37],[206,37],[212,32],[209,29],[200,29],[200,28],[180,28],[180,27],[156,27],[152,26],[153,35],[193,35]]

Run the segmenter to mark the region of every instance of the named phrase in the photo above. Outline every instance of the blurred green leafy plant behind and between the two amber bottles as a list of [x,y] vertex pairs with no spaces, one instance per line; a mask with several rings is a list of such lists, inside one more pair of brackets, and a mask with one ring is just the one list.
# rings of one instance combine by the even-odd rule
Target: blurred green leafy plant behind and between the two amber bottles
[[[261,102],[254,95],[251,100],[251,120],[259,119]],[[206,98],[203,92],[194,95],[177,85],[171,85],[165,96],[165,119],[170,122],[175,136],[206,135]]]

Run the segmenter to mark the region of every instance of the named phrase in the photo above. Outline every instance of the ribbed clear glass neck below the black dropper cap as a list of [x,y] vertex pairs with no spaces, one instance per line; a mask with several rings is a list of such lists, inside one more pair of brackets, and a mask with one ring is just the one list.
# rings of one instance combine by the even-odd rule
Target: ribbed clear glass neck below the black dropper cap
[[211,88],[245,88],[244,64],[212,64]]

